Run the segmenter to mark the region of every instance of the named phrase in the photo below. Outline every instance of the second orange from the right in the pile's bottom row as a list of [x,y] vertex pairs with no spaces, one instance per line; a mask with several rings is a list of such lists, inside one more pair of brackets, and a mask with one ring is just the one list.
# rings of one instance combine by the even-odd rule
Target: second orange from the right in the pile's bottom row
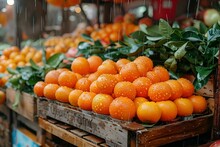
[[178,98],[174,100],[177,106],[178,116],[189,116],[193,113],[193,103],[188,98]]

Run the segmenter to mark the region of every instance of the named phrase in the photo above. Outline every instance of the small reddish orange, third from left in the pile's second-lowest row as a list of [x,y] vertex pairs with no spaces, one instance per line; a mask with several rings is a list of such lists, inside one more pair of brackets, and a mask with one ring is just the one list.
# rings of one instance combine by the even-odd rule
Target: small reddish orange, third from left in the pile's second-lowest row
[[91,83],[92,82],[88,78],[81,78],[76,82],[75,89],[89,91]]

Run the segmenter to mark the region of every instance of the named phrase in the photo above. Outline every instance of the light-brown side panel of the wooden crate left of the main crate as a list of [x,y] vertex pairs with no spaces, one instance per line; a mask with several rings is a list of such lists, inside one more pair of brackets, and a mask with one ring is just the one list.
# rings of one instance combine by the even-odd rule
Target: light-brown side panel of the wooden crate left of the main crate
[[[16,95],[19,95],[19,103],[16,107],[14,107],[13,104],[16,101],[16,98],[15,98]],[[25,93],[25,92],[20,93],[19,91],[15,91],[12,88],[7,88],[6,89],[6,104],[10,109],[24,116],[30,121],[37,120],[36,119],[37,102],[34,96],[28,93]]]

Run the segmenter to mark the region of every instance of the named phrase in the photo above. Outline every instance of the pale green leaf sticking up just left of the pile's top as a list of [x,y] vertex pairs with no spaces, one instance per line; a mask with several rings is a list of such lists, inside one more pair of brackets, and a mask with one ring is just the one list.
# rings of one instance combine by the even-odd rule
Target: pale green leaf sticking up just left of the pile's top
[[65,58],[64,54],[61,53],[54,54],[47,60],[47,64],[53,68],[57,68],[64,58]]

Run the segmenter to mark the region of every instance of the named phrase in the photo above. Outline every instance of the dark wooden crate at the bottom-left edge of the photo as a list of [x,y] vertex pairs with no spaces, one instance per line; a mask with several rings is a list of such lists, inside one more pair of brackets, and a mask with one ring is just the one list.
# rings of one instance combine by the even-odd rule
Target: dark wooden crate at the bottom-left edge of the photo
[[5,105],[0,105],[0,147],[11,146],[10,109]]

